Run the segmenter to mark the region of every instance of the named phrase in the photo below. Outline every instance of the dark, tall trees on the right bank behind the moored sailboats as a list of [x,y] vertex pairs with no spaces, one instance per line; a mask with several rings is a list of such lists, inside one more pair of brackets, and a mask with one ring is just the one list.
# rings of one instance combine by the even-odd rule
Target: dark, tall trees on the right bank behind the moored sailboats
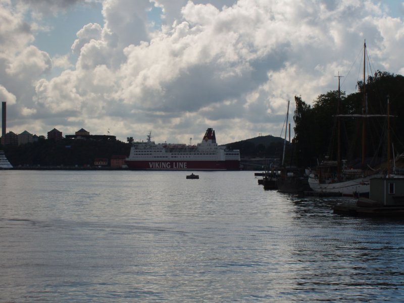
[[[350,164],[361,162],[364,121],[366,163],[377,165],[385,161],[388,145],[387,100],[390,115],[395,116],[390,117],[391,146],[396,152],[404,151],[404,77],[377,71],[368,77],[366,85],[363,81],[358,82],[358,87],[358,92],[349,95],[338,90],[321,94],[313,106],[301,97],[295,97],[295,138],[288,151],[294,155],[294,165],[313,167],[326,157],[337,159],[338,112],[341,160],[345,159]],[[379,117],[359,117],[363,113]]]

